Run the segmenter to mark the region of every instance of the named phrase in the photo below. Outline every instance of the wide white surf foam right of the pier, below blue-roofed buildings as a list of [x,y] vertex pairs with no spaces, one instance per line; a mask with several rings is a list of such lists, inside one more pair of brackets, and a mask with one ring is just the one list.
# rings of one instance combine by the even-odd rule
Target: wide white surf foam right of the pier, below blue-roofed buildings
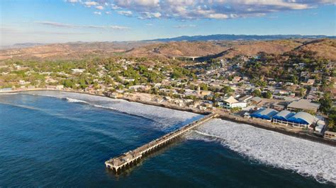
[[332,146],[221,119],[207,122],[186,138],[219,141],[261,163],[336,183],[336,148]]

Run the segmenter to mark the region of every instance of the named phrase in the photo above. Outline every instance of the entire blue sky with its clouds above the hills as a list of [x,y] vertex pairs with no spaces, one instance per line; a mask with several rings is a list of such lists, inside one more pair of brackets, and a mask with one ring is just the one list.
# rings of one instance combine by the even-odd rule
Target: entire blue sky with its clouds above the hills
[[0,45],[336,30],[334,0],[2,0],[0,6]]

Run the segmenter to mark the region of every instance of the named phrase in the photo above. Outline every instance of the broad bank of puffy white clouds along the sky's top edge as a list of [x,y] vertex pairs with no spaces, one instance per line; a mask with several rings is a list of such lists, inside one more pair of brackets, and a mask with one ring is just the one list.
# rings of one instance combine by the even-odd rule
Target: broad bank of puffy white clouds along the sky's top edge
[[[77,1],[77,0],[67,0]],[[81,1],[81,0],[78,0]],[[108,3],[107,3],[108,2]],[[106,6],[124,16],[140,19],[174,18],[228,19],[265,16],[279,11],[316,8],[336,4],[335,0],[95,0],[82,2],[84,6]],[[107,6],[109,5],[109,6]]]

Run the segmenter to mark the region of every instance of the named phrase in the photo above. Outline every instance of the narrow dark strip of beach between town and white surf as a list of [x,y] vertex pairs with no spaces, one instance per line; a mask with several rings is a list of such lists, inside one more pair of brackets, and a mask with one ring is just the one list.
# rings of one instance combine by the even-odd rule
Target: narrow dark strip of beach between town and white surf
[[[10,90],[10,91],[5,91],[5,92],[0,92],[1,93],[23,93],[23,92],[27,92],[27,91],[43,91],[43,90],[47,90],[47,91],[58,91],[58,92],[67,92],[67,93],[79,93],[79,94],[86,94],[86,95],[94,95],[94,96],[100,96],[100,97],[105,97],[108,98],[106,95],[99,95],[99,94],[94,94],[94,93],[86,93],[86,92],[79,92],[79,91],[75,91],[75,90],[56,90],[56,89],[47,89],[47,88],[35,88],[35,89],[27,89],[27,90]],[[152,105],[152,106],[156,106],[156,107],[164,107],[164,108],[168,108],[171,110],[179,110],[179,111],[183,111],[183,112],[192,112],[195,114],[209,114],[211,112],[213,112],[213,110],[209,111],[205,111],[205,110],[197,110],[197,109],[191,109],[191,108],[186,108],[186,107],[178,107],[176,105],[165,105],[162,103],[158,103],[158,102],[151,102],[151,101],[144,101],[144,100],[136,100],[136,99],[132,99],[132,98],[118,98],[121,100],[126,100],[128,102],[138,102],[141,103],[143,105]],[[218,113],[218,112],[217,112]],[[250,126],[253,127],[257,127],[259,129],[266,129],[269,131],[276,131],[280,134],[285,134],[287,136],[294,136],[296,138],[299,139],[306,139],[309,141],[315,141],[318,143],[324,143],[327,144],[329,146],[336,146],[336,141],[332,141],[332,140],[328,140],[328,139],[324,139],[323,137],[319,137],[319,136],[314,136],[312,134],[307,134],[306,132],[303,132],[301,129],[289,129],[289,127],[283,127],[280,125],[276,125],[276,124],[272,124],[271,122],[266,122],[264,120],[261,119],[246,119],[243,117],[238,117],[235,116],[233,114],[228,114],[225,112],[220,112],[218,113],[220,119],[229,121],[229,122],[236,122],[236,123],[240,123],[240,124],[249,124]]]

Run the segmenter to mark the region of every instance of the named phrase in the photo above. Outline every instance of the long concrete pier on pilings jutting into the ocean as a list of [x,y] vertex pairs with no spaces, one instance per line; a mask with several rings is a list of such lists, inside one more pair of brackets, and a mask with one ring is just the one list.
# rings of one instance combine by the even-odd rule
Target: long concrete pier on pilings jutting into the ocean
[[215,117],[218,117],[218,114],[208,114],[205,117],[196,120],[195,122],[187,124],[184,127],[177,129],[176,131],[172,131],[169,134],[160,137],[159,139],[150,141],[150,143],[146,143],[145,145],[140,146],[133,151],[128,151],[116,158],[111,158],[105,162],[106,168],[110,168],[113,170],[113,172],[116,173],[130,168],[138,163],[145,155],[152,153],[153,151],[157,151],[159,148],[166,146],[167,143],[174,141],[174,139],[177,139],[177,137],[181,136],[187,131],[194,129],[198,125],[203,124],[204,122],[207,122],[208,120]]

